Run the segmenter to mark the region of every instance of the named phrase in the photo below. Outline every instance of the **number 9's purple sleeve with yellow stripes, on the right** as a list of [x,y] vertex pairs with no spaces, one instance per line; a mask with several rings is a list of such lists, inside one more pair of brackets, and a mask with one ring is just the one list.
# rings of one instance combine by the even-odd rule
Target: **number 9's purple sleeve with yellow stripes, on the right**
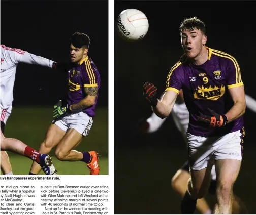
[[227,58],[226,81],[229,89],[243,85],[240,67],[232,56]]

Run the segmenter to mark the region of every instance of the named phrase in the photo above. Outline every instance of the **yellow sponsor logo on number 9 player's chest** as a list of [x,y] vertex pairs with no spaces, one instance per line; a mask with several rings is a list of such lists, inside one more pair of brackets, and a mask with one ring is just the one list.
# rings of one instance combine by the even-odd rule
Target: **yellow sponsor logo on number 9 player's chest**
[[221,87],[218,86],[209,86],[209,87],[198,87],[194,90],[195,99],[203,100],[217,100],[225,94],[225,86],[221,84]]

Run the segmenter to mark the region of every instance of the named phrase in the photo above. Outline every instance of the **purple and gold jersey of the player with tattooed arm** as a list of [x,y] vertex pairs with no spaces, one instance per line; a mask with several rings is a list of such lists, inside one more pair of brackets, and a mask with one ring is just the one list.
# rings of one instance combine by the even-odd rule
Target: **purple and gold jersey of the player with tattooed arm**
[[[83,59],[77,66],[68,72],[69,89],[67,103],[76,104],[84,99],[87,95],[84,88],[97,87],[98,91],[101,86],[99,71],[93,61],[88,56]],[[93,106],[83,109],[87,115],[94,117],[98,95]]]

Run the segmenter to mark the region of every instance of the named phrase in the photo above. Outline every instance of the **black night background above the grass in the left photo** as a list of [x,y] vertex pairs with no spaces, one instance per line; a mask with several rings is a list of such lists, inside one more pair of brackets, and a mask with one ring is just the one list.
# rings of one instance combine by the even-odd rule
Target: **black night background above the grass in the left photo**
[[[107,8],[108,1],[1,1],[1,44],[53,61],[69,61],[71,35],[88,34],[88,56],[101,74],[97,104],[108,107]],[[66,93],[66,85],[66,74],[20,63],[13,106],[53,105]]]

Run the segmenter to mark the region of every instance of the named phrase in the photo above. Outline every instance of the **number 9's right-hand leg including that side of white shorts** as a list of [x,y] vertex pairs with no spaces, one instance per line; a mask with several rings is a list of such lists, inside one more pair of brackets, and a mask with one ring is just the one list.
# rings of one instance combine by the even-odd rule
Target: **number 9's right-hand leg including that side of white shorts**
[[215,213],[232,213],[233,185],[240,171],[244,130],[229,133],[213,146],[217,175]]

